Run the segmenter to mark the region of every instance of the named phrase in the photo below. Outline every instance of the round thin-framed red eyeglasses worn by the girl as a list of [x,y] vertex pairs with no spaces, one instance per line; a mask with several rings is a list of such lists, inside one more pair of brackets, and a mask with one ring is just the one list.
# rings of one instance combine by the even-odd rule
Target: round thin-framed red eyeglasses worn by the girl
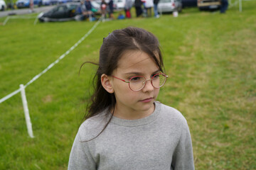
[[[114,77],[114,78],[119,79],[118,77]],[[125,81],[124,79],[119,79],[119,80],[124,81],[125,83],[129,83],[129,89],[131,89],[132,91],[140,91],[146,85],[146,81],[151,81],[152,86],[154,86],[154,88],[156,89],[159,89],[161,86],[164,86],[166,82],[166,78],[168,78],[166,74],[158,73],[158,74],[152,75],[151,79],[146,79],[143,76],[135,76],[135,77],[131,77],[129,81]]]

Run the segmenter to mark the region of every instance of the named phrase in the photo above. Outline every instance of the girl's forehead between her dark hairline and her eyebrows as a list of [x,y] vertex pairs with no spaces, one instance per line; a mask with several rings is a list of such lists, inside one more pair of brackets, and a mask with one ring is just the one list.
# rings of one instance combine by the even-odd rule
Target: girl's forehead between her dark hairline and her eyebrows
[[[157,55],[156,55],[157,57]],[[142,51],[126,51],[117,63],[117,69],[122,72],[130,71],[131,69],[159,69],[153,57],[150,57],[146,52]],[[120,71],[119,70],[119,71]]]

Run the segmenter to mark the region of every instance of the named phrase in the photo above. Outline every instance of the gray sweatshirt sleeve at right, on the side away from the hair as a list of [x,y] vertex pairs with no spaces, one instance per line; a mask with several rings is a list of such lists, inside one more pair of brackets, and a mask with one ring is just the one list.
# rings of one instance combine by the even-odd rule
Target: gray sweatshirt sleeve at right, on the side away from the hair
[[193,149],[188,124],[183,124],[181,137],[174,151],[171,166],[174,170],[194,170]]

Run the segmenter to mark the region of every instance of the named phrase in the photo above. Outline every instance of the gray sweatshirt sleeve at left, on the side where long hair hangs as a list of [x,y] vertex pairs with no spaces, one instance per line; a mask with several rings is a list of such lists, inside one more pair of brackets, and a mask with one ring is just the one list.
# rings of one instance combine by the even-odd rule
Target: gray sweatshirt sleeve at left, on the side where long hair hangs
[[82,142],[78,132],[70,152],[68,170],[96,170],[95,160],[87,145],[88,142]]

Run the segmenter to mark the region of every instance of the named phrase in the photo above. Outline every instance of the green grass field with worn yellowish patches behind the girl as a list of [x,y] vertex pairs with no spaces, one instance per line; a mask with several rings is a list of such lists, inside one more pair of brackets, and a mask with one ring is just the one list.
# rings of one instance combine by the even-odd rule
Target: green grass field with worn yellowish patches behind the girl
[[[132,18],[99,26],[69,55],[26,88],[35,138],[28,137],[21,95],[0,103],[0,169],[67,169],[85,113],[102,38],[137,26],[161,42],[166,85],[159,101],[188,120],[196,169],[256,169],[256,1],[225,15],[183,9],[178,18]],[[0,23],[5,18],[0,18]],[[0,98],[26,84],[75,44],[95,22],[0,26]]]

